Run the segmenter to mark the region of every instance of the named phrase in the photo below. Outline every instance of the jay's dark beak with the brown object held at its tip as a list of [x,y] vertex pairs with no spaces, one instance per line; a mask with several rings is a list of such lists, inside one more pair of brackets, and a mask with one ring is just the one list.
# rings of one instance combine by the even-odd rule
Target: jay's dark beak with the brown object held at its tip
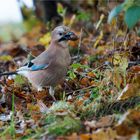
[[73,33],[73,32],[67,32],[66,34],[63,35],[63,37],[61,37],[59,39],[60,41],[65,41],[65,40],[72,40],[72,41],[76,41],[78,39],[78,36]]

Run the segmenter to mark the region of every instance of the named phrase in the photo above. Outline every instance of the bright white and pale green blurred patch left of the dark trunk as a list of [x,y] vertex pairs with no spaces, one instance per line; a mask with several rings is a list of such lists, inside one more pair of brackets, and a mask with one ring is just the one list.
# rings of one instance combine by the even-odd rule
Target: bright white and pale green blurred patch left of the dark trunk
[[18,38],[25,31],[26,27],[23,25],[22,8],[26,6],[27,9],[33,9],[32,0],[1,0],[0,2],[0,38],[9,41],[12,39],[11,35]]

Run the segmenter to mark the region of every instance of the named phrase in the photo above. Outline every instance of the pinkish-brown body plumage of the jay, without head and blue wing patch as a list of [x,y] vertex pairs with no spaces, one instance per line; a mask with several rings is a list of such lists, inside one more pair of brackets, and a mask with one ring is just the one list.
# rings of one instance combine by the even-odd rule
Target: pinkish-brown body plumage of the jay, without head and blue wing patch
[[28,74],[28,79],[36,88],[55,86],[66,75],[70,61],[68,47],[52,43],[47,51],[32,61],[36,65],[48,64],[48,67],[39,71],[31,71]]

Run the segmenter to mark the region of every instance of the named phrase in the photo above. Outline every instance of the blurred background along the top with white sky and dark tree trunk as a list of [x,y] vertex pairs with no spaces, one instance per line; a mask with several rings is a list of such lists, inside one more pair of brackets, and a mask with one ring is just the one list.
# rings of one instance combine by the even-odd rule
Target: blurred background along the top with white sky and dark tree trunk
[[19,39],[39,24],[51,29],[62,23],[74,26],[80,22],[78,26],[93,30],[101,13],[108,14],[116,4],[114,0],[1,0],[0,39]]

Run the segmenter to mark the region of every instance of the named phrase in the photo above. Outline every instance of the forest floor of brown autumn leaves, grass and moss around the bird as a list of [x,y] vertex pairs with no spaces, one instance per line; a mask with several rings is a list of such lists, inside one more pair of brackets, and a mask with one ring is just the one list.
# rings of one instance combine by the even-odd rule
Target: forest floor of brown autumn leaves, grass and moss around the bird
[[[56,102],[21,76],[0,78],[0,140],[140,138],[140,37],[121,20],[108,24],[99,15],[93,24],[84,14],[64,19],[79,40],[69,42],[72,64],[55,88]],[[18,39],[1,39],[0,72],[47,49],[51,30],[38,23]]]

